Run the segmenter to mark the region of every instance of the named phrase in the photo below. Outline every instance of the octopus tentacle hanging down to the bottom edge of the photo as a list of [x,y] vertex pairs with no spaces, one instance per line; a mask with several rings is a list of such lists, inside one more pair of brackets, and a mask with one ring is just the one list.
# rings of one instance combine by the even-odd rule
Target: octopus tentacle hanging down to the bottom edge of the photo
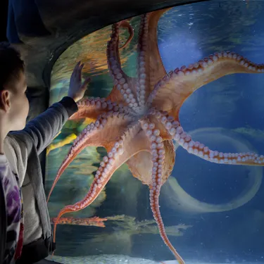
[[150,123],[146,120],[143,120],[141,122],[142,129],[146,132],[146,135],[149,137],[149,142],[151,142],[151,154],[152,154],[152,173],[151,173],[151,185],[149,186],[149,199],[151,204],[151,210],[153,213],[153,217],[156,220],[156,223],[158,225],[158,230],[161,234],[161,237],[164,241],[164,243],[168,246],[170,251],[172,251],[175,258],[177,258],[178,262],[180,264],[184,264],[184,260],[180,256],[179,253],[177,253],[176,249],[172,246],[170,243],[170,240],[168,239],[168,236],[165,232],[165,226],[163,224],[163,220],[161,217],[161,212],[159,209],[158,204],[158,197],[160,195],[161,186],[163,184],[162,177],[163,177],[163,163],[165,160],[165,149],[163,142],[160,140],[159,143],[153,143],[153,139],[156,139],[159,134],[159,130],[155,129],[155,125],[153,123]]

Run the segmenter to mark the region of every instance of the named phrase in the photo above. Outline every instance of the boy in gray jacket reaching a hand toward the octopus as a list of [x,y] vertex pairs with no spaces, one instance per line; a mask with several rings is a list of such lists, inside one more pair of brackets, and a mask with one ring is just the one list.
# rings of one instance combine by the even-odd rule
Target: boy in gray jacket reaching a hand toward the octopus
[[1,239],[6,236],[5,264],[49,263],[44,258],[55,249],[39,154],[77,111],[76,102],[89,83],[89,79],[82,83],[83,66],[80,62],[75,66],[68,96],[25,125],[29,103],[24,63],[18,51],[0,44],[0,198],[4,190],[0,206],[6,206],[6,218],[0,215],[0,234]]

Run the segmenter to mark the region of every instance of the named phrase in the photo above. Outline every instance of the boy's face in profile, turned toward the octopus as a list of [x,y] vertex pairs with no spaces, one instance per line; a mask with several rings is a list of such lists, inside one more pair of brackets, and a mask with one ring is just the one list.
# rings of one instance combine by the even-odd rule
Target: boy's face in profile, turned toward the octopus
[[11,131],[23,130],[26,124],[28,111],[30,108],[27,96],[27,82],[25,74],[21,71],[19,78],[12,84],[10,89],[10,109],[8,120],[10,120]]

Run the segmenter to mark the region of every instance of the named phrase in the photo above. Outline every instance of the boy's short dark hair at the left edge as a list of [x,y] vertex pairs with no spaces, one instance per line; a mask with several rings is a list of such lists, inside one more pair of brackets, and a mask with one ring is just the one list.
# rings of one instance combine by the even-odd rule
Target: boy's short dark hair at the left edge
[[25,70],[20,53],[8,42],[0,42],[0,91],[4,85],[18,80],[20,71]]

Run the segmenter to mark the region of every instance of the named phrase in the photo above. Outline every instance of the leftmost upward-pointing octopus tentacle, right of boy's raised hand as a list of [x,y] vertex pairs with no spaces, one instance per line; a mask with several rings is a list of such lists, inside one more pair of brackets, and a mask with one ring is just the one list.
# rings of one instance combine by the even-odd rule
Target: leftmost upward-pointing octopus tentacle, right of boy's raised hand
[[[134,87],[134,80],[128,77],[122,70],[120,63],[120,56],[118,51],[119,42],[119,30],[122,23],[115,23],[112,26],[111,39],[107,44],[107,62],[110,75],[113,77],[114,85],[119,90],[127,106],[136,110],[138,108],[138,103],[135,98],[131,87]],[[127,25],[127,24],[126,24]],[[116,93],[115,89],[115,93]]]

